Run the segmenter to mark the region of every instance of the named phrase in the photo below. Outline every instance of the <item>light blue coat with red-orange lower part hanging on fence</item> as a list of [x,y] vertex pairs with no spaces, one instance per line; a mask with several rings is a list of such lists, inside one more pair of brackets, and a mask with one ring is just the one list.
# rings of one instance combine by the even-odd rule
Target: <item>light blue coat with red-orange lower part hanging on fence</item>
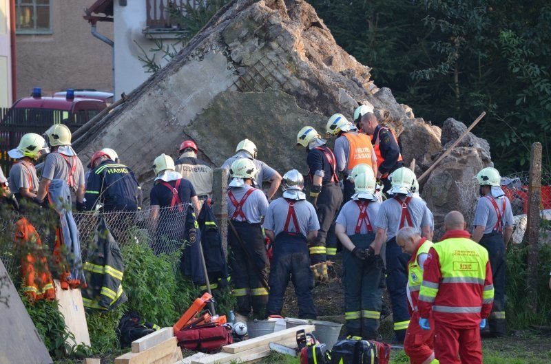
[[71,211],[71,191],[67,182],[54,179],[48,189],[48,200],[59,214],[54,244],[54,261],[61,266],[61,288],[86,286],[82,268],[79,229]]

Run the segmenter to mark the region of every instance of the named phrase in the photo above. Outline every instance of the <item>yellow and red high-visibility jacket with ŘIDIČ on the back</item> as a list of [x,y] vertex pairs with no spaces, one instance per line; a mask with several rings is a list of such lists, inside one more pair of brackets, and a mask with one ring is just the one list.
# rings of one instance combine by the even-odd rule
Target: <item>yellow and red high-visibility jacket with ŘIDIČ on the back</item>
[[433,249],[437,256],[431,259],[437,259],[440,277],[435,281],[424,272],[419,309],[422,302],[432,304],[435,320],[450,327],[479,324],[482,306],[491,306],[494,297],[493,285],[486,285],[488,250],[465,237],[444,239]]

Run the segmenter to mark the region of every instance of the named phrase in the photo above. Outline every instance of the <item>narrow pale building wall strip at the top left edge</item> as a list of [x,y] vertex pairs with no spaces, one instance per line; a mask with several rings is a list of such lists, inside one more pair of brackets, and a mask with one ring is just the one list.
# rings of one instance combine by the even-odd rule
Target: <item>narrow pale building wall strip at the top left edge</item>
[[0,0],[0,107],[12,105],[10,0]]

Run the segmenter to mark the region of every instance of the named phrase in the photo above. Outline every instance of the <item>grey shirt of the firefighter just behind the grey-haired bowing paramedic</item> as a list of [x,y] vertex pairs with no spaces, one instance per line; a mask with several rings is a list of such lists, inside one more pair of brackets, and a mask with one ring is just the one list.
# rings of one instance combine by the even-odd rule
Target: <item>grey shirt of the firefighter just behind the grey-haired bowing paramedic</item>
[[[408,211],[411,217],[413,228],[422,232],[421,228],[430,226],[430,217],[427,213],[426,203],[420,198],[412,198],[408,204]],[[396,236],[400,226],[400,217],[402,217],[402,203],[395,198],[389,198],[383,201],[377,214],[376,228],[386,230],[386,241]],[[404,226],[408,226],[408,221],[404,220]]]

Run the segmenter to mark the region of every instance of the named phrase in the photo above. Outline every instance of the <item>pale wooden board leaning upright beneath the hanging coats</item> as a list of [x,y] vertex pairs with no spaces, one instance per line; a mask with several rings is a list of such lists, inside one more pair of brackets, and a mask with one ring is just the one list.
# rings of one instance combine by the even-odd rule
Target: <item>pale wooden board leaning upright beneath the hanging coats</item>
[[65,319],[65,325],[74,335],[74,342],[67,338],[65,343],[69,345],[84,343],[90,346],[90,334],[88,333],[86,315],[84,314],[81,290],[79,288],[62,290],[59,279],[54,279],[54,284],[56,286],[56,299],[59,302],[59,312]]

